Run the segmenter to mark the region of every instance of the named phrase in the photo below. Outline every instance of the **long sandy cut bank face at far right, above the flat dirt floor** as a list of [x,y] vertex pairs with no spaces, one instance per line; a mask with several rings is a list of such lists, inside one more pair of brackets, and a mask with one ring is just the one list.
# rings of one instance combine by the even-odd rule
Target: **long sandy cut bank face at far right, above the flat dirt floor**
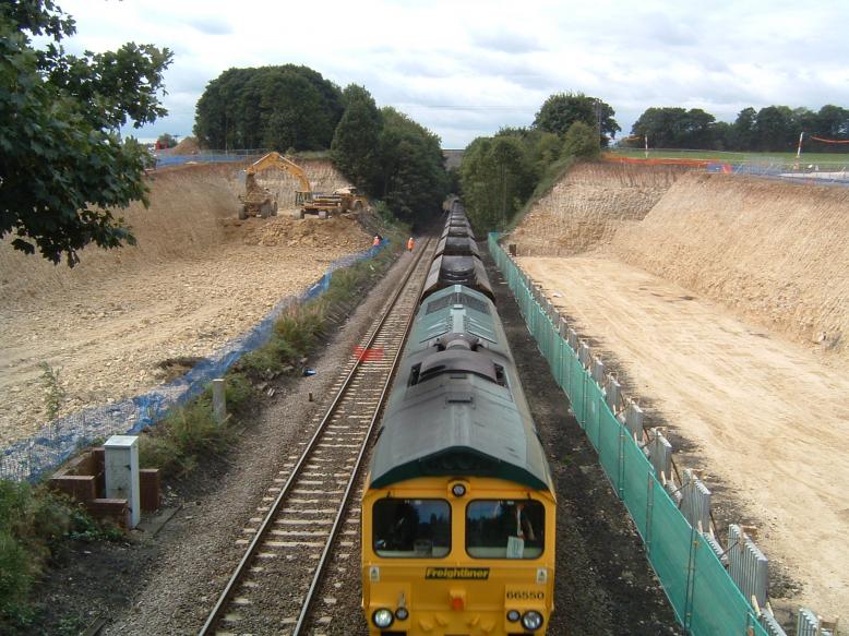
[[611,252],[825,352],[849,351],[849,189],[679,180]]

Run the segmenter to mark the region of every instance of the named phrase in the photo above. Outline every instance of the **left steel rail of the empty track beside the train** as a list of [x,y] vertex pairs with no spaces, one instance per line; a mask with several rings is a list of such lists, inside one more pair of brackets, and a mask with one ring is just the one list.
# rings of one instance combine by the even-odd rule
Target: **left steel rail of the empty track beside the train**
[[[378,335],[380,334],[380,329],[385,323],[386,319],[392,313],[392,310],[395,308],[395,303],[397,302],[398,298],[400,297],[402,292],[407,286],[407,283],[409,281],[409,278],[412,276],[412,273],[416,271],[418,264],[421,261],[422,254],[426,252],[428,245],[430,244],[430,241],[428,241],[428,244],[422,245],[421,251],[416,256],[416,259],[412,261],[412,263],[409,265],[407,271],[404,274],[403,283],[398,286],[398,288],[395,290],[395,293],[393,295],[390,304],[387,305],[386,310],[381,315],[380,320],[376,323],[376,326],[374,327],[374,331],[372,332],[371,336],[368,339],[368,343],[366,344],[364,348],[371,347],[371,345],[376,339]],[[315,429],[315,432],[313,433],[312,437],[308,442],[307,446],[304,447],[303,452],[301,453],[300,458],[298,459],[295,467],[291,469],[291,473],[289,475],[288,479],[286,480],[286,483],[283,485],[280,491],[277,493],[277,496],[275,497],[273,504],[271,505],[268,512],[265,515],[265,518],[262,521],[262,525],[256,530],[256,532],[253,535],[253,538],[251,539],[251,542],[248,545],[248,549],[244,552],[244,555],[239,561],[239,564],[236,566],[236,569],[234,571],[232,575],[230,576],[230,579],[227,581],[226,587],[224,588],[224,591],[222,591],[220,596],[218,597],[217,602],[215,603],[215,607],[213,608],[212,612],[206,619],[206,622],[201,627],[200,632],[198,633],[198,636],[208,636],[212,634],[212,629],[218,624],[218,622],[222,619],[222,613],[224,610],[228,607],[228,603],[234,595],[234,592],[237,589],[237,586],[241,583],[242,577],[244,576],[244,573],[248,571],[249,565],[253,562],[253,559],[256,554],[256,550],[262,543],[262,541],[265,539],[267,531],[270,527],[273,525],[273,520],[275,516],[277,515],[277,512],[280,507],[280,503],[289,495],[289,491],[291,490],[292,484],[296,481],[296,478],[299,476],[303,465],[307,463],[308,457],[311,455],[312,451],[315,448],[315,445],[318,443],[318,440],[322,436],[324,429],[327,424],[327,422],[333,417],[337,406],[342,401],[343,396],[345,395],[346,391],[348,389],[351,380],[356,375],[357,371],[361,368],[366,356],[360,356],[355,361],[354,367],[348,372],[347,376],[343,381],[343,385],[339,387],[338,392],[336,393],[336,396],[333,399],[333,403],[331,403],[330,407],[327,408],[327,411],[325,412],[324,417],[322,418],[321,422],[319,423],[318,428]],[[392,373],[390,373],[392,375]],[[383,397],[383,396],[381,396]],[[380,407],[379,407],[380,408]],[[378,409],[379,410],[379,409]],[[364,445],[363,445],[364,446]]]

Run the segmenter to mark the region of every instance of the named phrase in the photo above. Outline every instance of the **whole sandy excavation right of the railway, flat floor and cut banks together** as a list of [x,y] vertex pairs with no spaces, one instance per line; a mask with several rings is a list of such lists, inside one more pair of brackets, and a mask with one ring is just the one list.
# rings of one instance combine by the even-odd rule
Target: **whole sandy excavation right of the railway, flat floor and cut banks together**
[[696,449],[715,505],[761,528],[774,573],[801,585],[776,586],[779,605],[846,615],[849,189],[692,172],[645,214],[656,168],[630,169],[631,184],[573,170],[506,242],[570,255],[521,260]]

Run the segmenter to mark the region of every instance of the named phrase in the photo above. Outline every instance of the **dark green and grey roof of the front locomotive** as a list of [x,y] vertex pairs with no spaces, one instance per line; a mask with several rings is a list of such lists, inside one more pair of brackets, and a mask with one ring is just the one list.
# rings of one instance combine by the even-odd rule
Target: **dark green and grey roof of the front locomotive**
[[[462,325],[469,310],[480,319],[490,315],[470,305],[491,303],[485,296],[463,287],[443,289],[429,298],[440,307],[437,312],[424,303],[416,322]],[[451,302],[441,303],[445,297]],[[456,302],[455,302],[456,301]],[[428,313],[429,312],[429,313]],[[444,315],[441,315],[444,314]],[[428,338],[427,333],[433,334]],[[531,489],[549,490],[551,479],[542,445],[530,419],[509,349],[500,347],[471,350],[467,343],[478,338],[452,329],[442,339],[462,346],[440,351],[426,345],[438,343],[432,328],[414,327],[411,340],[420,347],[406,351],[395,381],[392,398],[383,418],[371,464],[371,487],[385,488],[417,477],[492,477]],[[503,329],[497,340],[503,339]],[[453,338],[453,340],[452,340]],[[492,343],[494,344],[494,343]],[[498,370],[503,374],[498,377]],[[415,377],[415,382],[414,382]]]

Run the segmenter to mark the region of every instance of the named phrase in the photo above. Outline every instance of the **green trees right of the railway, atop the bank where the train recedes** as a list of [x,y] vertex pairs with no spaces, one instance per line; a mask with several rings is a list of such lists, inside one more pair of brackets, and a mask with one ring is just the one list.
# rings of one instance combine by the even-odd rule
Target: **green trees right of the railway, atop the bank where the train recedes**
[[614,116],[596,97],[558,93],[546,99],[530,127],[473,141],[455,175],[473,225],[482,231],[509,226],[576,157],[598,156],[621,130]]

